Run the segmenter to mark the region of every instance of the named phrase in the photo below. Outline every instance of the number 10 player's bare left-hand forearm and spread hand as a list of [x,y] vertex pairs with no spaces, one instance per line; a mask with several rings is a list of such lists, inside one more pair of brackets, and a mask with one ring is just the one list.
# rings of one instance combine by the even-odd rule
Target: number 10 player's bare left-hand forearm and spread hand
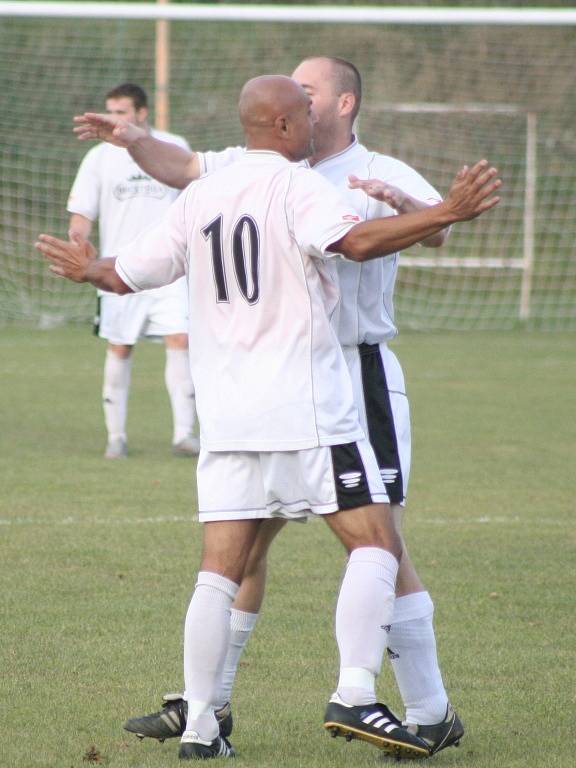
[[132,293],[115,270],[116,259],[98,259],[89,240],[74,235],[70,242],[40,235],[34,246],[50,262],[50,271],[74,283],[92,283],[113,293]]

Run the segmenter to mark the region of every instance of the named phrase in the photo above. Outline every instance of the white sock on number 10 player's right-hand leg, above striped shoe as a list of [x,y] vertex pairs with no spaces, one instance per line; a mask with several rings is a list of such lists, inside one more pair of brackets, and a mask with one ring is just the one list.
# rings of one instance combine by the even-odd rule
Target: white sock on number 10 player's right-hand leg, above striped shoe
[[347,704],[373,704],[392,620],[398,560],[379,547],[361,547],[350,555],[336,607],[340,651],[337,693]]

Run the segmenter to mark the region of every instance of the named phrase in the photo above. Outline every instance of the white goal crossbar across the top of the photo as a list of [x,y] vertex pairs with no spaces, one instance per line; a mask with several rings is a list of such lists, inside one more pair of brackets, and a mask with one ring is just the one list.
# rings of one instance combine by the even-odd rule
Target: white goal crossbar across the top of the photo
[[281,21],[335,24],[574,25],[572,8],[344,8],[306,5],[160,5],[156,3],[0,2],[0,16],[170,19],[173,21]]

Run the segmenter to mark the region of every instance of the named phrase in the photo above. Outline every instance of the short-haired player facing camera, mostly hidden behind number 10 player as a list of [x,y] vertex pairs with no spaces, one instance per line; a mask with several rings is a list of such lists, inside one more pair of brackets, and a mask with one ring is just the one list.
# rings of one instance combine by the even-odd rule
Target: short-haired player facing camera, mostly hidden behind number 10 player
[[[292,77],[309,94],[317,123],[309,164],[338,187],[363,220],[405,214],[437,203],[440,194],[413,168],[371,152],[353,133],[362,86],[357,69],[331,57],[304,60]],[[188,152],[162,144],[125,121],[87,114],[76,118],[80,138],[103,138],[127,146],[147,171],[165,183],[183,187],[203,173],[243,156],[241,147],[222,152]],[[369,199],[361,191],[373,197]],[[426,247],[441,246],[447,230],[424,238]],[[357,264],[338,261],[340,313],[337,333],[354,384],[362,424],[375,450],[380,472],[401,535],[402,508],[410,472],[410,416],[402,368],[389,349],[397,335],[393,292],[399,264],[395,253]],[[276,526],[276,528],[274,528]],[[231,614],[229,654],[224,668],[217,715],[230,727],[232,685],[240,655],[258,618],[266,573],[266,551],[279,527],[262,527]],[[396,583],[394,618],[388,628],[388,656],[404,703],[404,722],[424,738],[433,752],[457,744],[464,733],[442,681],[433,629],[433,602],[410,559],[405,543]],[[160,712],[132,718],[125,727],[154,738],[179,735],[186,702],[168,694]]]

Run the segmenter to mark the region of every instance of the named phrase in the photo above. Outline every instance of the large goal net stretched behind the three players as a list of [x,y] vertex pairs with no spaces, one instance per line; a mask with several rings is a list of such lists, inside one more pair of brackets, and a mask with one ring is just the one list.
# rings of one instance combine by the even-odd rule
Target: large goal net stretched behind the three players
[[504,179],[496,210],[455,226],[440,250],[403,254],[400,326],[576,328],[575,24],[570,11],[0,2],[0,321],[92,315],[93,289],[52,276],[33,247],[41,231],[67,231],[89,148],[73,114],[102,109],[129,80],[152,101],[167,91],[157,114],[194,149],[220,149],[242,142],[249,77],[323,54],[363,75],[368,147],[440,191],[483,156]]

